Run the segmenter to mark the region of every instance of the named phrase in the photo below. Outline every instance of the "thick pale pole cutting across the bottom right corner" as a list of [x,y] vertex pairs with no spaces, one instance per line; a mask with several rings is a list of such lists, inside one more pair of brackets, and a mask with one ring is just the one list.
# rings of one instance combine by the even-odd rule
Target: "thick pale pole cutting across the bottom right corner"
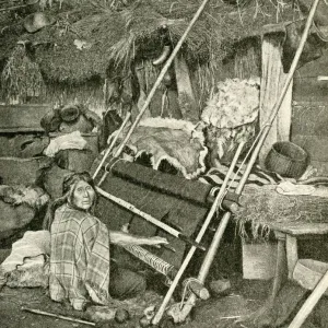
[[323,276],[316,288],[313,290],[311,295],[306,298],[301,309],[294,317],[293,321],[290,324],[289,328],[300,328],[313,308],[316,306],[320,297],[325,294],[328,288],[328,271]]

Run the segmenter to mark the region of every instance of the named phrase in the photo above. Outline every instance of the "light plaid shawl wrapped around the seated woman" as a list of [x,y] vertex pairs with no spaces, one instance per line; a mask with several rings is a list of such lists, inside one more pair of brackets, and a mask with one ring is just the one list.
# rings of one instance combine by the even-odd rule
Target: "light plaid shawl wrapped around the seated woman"
[[109,300],[109,234],[95,216],[63,204],[51,225],[49,291],[54,301],[68,298],[83,309],[91,298]]

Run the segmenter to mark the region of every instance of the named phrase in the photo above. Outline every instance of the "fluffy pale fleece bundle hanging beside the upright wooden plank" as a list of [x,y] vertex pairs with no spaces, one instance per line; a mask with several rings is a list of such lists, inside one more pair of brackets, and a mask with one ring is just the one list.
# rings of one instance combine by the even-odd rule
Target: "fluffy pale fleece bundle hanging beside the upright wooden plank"
[[220,81],[201,115],[211,153],[221,159],[237,143],[249,141],[258,109],[259,79]]

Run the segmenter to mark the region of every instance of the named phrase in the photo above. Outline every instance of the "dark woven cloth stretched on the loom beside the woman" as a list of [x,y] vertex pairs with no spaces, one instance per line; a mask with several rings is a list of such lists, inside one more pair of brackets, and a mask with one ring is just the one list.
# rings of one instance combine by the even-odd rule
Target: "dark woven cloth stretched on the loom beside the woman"
[[[108,201],[102,197],[102,192],[122,199],[136,208],[142,210],[159,221],[175,227],[192,239],[199,230],[203,219],[213,203],[218,187],[204,185],[197,180],[187,180],[184,177],[161,173],[150,167],[136,163],[118,160],[106,165],[103,163],[99,176],[95,183],[101,185],[99,199],[96,207],[96,215],[107,224],[110,230],[121,230],[129,224],[132,234],[165,236],[169,242],[169,248],[162,247],[152,253],[161,257],[168,265],[178,268],[184,258],[188,243],[176,238],[156,225],[138,218],[120,204]],[[108,168],[109,166],[109,168]],[[104,176],[106,169],[109,173]],[[99,192],[99,190],[103,190]],[[229,198],[229,197],[227,197]],[[225,201],[230,206],[230,201]],[[174,250],[175,251],[174,251]],[[130,258],[120,257],[124,265],[131,265]],[[137,263],[133,263],[137,266]]]

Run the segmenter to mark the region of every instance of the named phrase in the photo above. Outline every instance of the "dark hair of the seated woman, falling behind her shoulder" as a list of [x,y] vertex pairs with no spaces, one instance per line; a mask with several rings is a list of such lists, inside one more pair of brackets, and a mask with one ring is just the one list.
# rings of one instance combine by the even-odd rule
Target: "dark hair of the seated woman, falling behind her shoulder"
[[87,172],[72,173],[67,175],[62,181],[62,196],[55,199],[52,202],[48,204],[47,213],[45,215],[44,223],[43,223],[44,230],[50,231],[54,216],[55,216],[55,211],[66,202],[70,202],[70,197],[73,195],[75,190],[75,186],[79,181],[85,181],[95,190],[94,181]]

